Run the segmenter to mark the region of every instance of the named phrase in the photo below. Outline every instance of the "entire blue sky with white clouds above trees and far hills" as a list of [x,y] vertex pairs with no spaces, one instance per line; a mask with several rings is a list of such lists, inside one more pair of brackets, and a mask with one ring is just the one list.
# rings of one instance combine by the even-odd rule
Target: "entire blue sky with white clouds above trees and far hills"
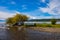
[[0,20],[16,13],[30,19],[60,18],[60,0],[0,0]]

